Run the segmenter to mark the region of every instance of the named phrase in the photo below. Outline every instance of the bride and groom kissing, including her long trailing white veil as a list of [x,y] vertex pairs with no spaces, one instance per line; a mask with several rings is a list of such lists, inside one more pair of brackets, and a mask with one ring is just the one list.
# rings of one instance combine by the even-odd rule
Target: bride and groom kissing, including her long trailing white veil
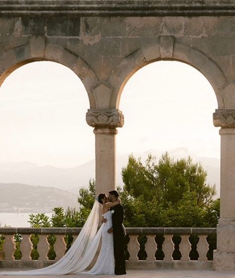
[[[102,206],[102,225],[98,229]],[[51,266],[25,271],[0,272],[1,275],[124,275],[124,209],[116,190],[109,196],[99,194],[93,208],[77,238],[69,250]],[[101,249],[94,266],[87,270],[93,262],[102,240]]]

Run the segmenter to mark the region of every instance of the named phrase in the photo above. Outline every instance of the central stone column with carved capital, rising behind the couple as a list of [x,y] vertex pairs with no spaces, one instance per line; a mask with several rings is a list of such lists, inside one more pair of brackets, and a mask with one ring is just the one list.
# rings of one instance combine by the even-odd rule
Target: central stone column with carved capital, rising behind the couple
[[116,134],[124,118],[118,109],[88,109],[88,125],[96,137],[96,195],[116,189]]

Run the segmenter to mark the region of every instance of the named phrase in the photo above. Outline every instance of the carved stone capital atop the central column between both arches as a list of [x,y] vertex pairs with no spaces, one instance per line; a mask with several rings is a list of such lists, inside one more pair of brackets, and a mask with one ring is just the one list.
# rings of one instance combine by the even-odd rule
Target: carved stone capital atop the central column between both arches
[[124,117],[118,109],[88,109],[86,122],[93,128],[121,128]]

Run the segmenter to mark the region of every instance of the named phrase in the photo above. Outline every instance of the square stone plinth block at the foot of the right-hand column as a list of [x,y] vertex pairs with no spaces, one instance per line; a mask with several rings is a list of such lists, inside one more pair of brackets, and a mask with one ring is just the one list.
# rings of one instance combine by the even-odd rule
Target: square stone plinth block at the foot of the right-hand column
[[216,271],[235,271],[235,252],[213,252],[213,269]]

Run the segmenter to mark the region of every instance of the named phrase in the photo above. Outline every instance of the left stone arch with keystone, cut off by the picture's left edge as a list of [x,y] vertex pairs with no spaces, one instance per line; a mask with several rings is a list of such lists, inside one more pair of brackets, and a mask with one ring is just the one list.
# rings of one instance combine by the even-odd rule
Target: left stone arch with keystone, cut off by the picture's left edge
[[4,79],[17,68],[35,61],[52,61],[71,69],[82,81],[90,102],[95,108],[92,88],[99,82],[90,66],[71,51],[52,43],[44,38],[34,38],[29,43],[18,45],[0,54],[0,85]]

